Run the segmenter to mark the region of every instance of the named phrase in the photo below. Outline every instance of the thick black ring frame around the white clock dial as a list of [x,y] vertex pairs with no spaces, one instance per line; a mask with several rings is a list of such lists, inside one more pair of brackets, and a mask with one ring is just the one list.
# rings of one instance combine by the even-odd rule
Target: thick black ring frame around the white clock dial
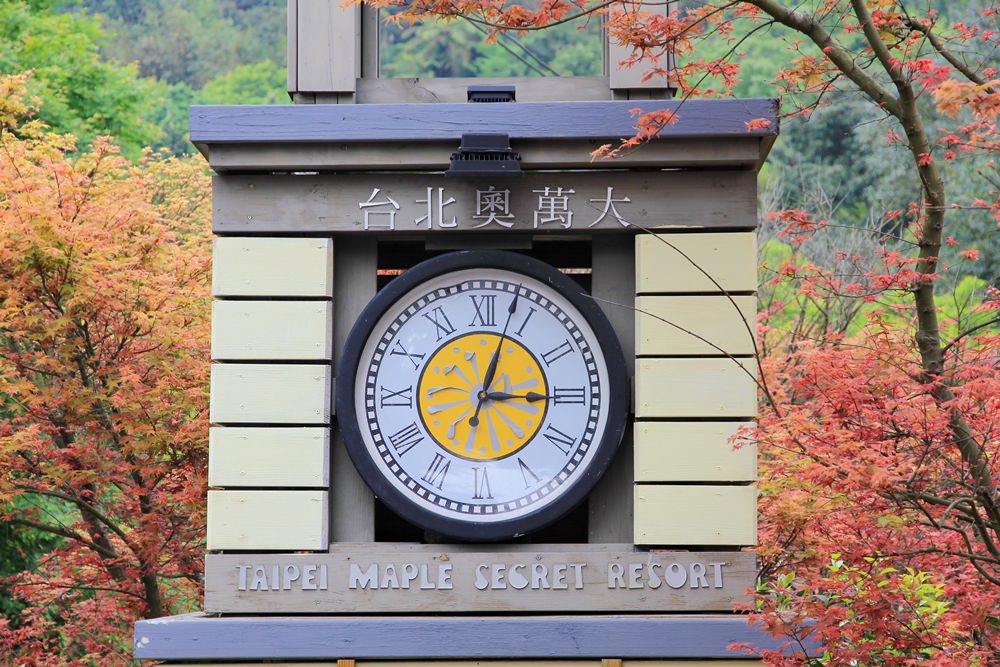
[[[502,269],[534,278],[559,292],[580,312],[597,337],[608,373],[608,419],[594,458],[562,495],[537,511],[506,521],[461,521],[431,512],[396,489],[379,470],[361,436],[355,405],[355,379],[361,354],[382,315],[408,292],[446,273],[466,269]],[[628,376],[618,337],[597,303],[558,269],[527,255],[500,250],[460,250],[425,260],[378,292],[358,316],[337,366],[336,415],[347,453],[361,478],[390,509],[424,529],[473,542],[511,539],[538,530],[565,516],[593,490],[611,465],[625,433],[629,410]]]

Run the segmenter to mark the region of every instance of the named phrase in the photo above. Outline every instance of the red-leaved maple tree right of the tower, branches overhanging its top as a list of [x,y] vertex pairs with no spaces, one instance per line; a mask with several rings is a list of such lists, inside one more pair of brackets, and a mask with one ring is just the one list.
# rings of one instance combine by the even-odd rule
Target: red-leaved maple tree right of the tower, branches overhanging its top
[[[794,650],[807,636],[824,647],[816,664],[1000,660],[1000,299],[987,289],[960,309],[942,301],[963,212],[1000,221],[1000,10],[955,22],[904,0],[708,1],[669,13],[601,0],[366,1],[393,21],[460,17],[494,33],[602,15],[631,47],[621,65],[669,79],[682,102],[641,114],[635,136],[598,158],[641,149],[688,97],[730,94],[755,38],[786,41],[774,80],[786,116],[838,94],[867,100],[913,177],[909,206],[858,225],[865,248],[827,261],[814,259],[817,235],[836,237],[822,215],[770,215],[784,257],[763,267],[762,406],[745,434],[762,462],[751,619],[789,639],[791,654],[765,654],[774,663],[809,662]],[[721,57],[705,57],[720,44]],[[969,201],[949,199],[943,174],[958,160],[982,165]],[[951,254],[952,272],[977,258]]]

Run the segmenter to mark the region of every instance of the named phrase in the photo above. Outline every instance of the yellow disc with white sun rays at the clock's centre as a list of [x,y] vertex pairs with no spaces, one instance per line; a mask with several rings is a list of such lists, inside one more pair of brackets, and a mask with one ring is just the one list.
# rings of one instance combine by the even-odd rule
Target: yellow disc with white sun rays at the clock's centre
[[[498,345],[496,373],[483,387]],[[534,398],[548,393],[534,355],[493,333],[466,334],[438,348],[417,391],[420,418],[431,437],[452,454],[475,461],[502,459],[524,447],[548,409],[548,401]]]

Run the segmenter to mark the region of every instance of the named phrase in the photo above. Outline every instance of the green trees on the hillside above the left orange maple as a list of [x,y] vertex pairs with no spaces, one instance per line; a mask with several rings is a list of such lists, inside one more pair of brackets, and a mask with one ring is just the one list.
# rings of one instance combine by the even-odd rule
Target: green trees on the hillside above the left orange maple
[[192,104],[288,100],[283,37],[278,0],[13,0],[0,3],[0,74],[31,72],[38,118],[81,150],[111,136],[131,158],[181,154]]

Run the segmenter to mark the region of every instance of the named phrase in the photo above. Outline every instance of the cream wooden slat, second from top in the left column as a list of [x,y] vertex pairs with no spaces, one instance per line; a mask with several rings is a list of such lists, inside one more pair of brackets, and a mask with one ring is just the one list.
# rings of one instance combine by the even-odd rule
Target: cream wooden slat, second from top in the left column
[[216,301],[212,358],[329,360],[332,312],[329,301]]

